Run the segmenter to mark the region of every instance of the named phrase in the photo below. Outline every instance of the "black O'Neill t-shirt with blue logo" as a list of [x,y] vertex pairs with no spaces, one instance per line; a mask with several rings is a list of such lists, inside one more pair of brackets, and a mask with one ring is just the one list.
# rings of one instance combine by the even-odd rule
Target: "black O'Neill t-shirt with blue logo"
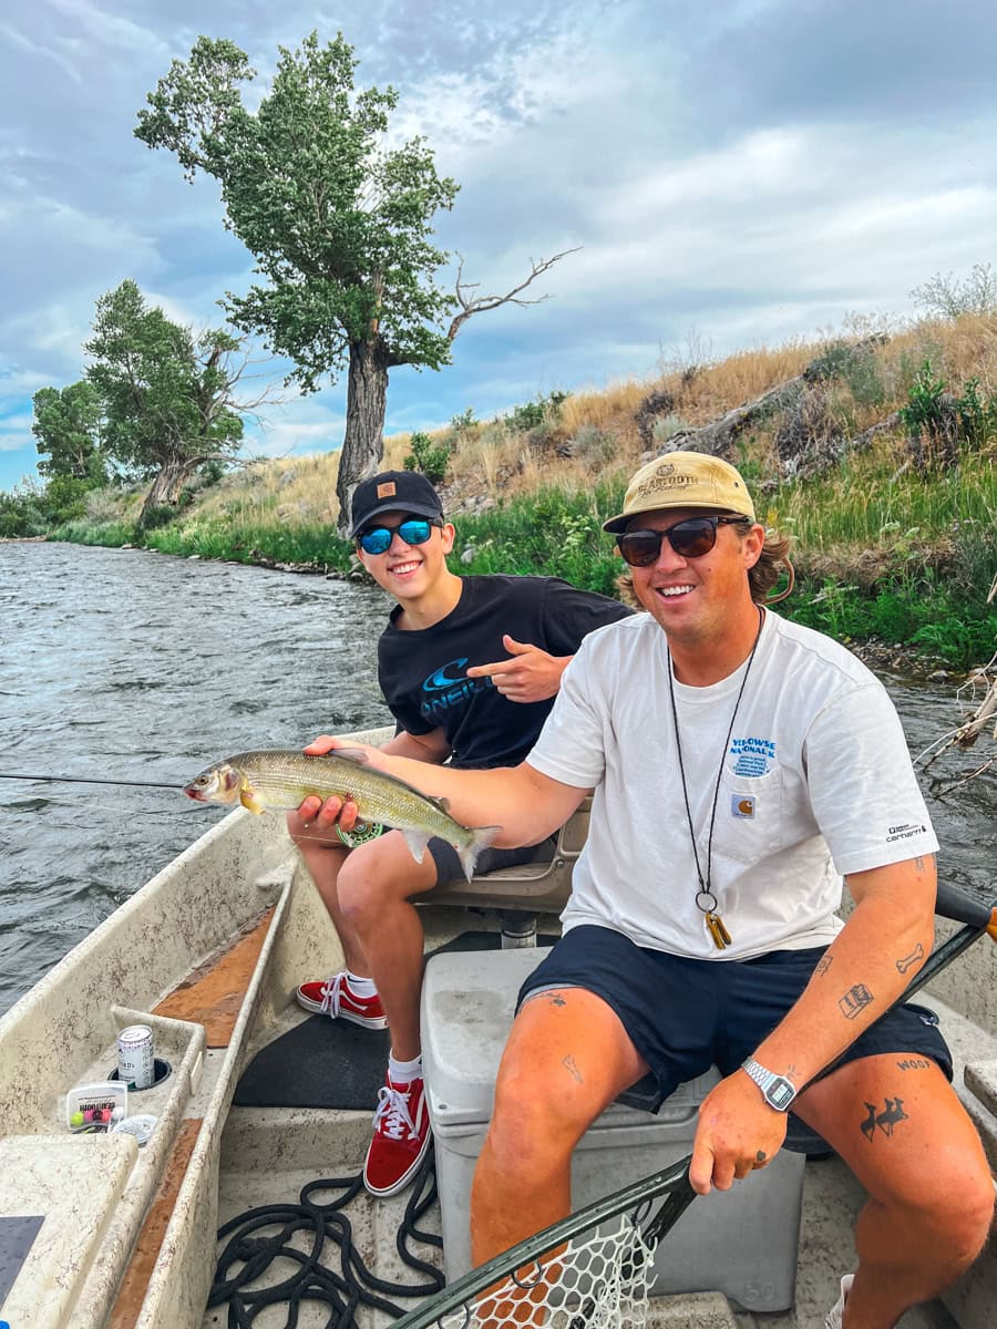
[[396,606],[378,643],[378,676],[391,712],[409,734],[441,728],[453,766],[516,766],[554,704],[510,702],[473,664],[510,659],[502,634],[550,655],[574,655],[594,627],[626,618],[615,599],[577,590],[557,577],[483,575],[463,579],[456,607],[432,627],[395,627]]

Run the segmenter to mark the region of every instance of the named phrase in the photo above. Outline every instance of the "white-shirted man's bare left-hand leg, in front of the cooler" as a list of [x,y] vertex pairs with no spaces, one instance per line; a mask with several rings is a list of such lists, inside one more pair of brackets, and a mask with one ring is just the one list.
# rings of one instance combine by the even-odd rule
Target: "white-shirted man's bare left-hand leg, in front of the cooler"
[[530,997],[512,1027],[471,1195],[475,1264],[570,1213],[572,1151],[647,1066],[613,1009],[581,987]]

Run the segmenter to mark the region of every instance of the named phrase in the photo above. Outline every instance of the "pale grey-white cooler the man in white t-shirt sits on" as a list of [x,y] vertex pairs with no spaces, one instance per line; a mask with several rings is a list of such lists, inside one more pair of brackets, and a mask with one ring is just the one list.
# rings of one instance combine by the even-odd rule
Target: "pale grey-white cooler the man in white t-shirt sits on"
[[[423,983],[423,1061],[436,1139],[448,1281],[471,1268],[471,1179],[492,1115],[498,1059],[520,985],[546,954],[524,948],[433,956]],[[655,1115],[613,1103],[572,1164],[573,1208],[691,1152],[699,1102],[717,1071],[682,1084]],[[802,1154],[783,1150],[730,1191],[698,1196],[663,1237],[654,1296],[722,1292],[746,1310],[787,1310],[796,1281]]]

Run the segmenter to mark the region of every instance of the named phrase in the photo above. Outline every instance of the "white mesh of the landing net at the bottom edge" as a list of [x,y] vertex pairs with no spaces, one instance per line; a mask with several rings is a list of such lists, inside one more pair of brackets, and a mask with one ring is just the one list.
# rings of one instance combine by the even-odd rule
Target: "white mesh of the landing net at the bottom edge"
[[440,1316],[440,1329],[645,1329],[654,1251],[619,1215]]

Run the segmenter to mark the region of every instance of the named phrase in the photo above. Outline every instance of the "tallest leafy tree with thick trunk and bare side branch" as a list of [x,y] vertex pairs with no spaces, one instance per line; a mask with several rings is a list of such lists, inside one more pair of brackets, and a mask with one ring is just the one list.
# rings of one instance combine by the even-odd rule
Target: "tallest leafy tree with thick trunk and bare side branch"
[[[347,365],[347,417],[336,493],[348,528],[352,492],[384,453],[388,371],[439,369],[473,314],[536,303],[522,291],[562,254],[532,264],[518,287],[480,296],[457,275],[436,283],[448,255],[432,219],[459,186],[436,171],[421,137],[387,141],[392,88],[356,90],[358,61],[342,33],[279,48],[267,94],[243,104],[255,70],[231,41],[199,37],[174,60],[138,113],[136,136],[174,153],[187,179],[221,183],[225,225],[250,250],[266,284],[223,302],[233,324],[262,336],[306,392]],[[456,315],[447,326],[453,311]]]

